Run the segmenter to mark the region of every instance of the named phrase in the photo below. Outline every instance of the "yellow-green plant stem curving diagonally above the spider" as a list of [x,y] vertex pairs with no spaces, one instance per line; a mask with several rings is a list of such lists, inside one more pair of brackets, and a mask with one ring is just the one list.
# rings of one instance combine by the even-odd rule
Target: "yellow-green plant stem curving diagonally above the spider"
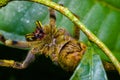
[[109,59],[112,61],[116,69],[118,70],[120,74],[120,63],[116,59],[116,57],[112,54],[112,52],[107,48],[107,46],[100,41],[90,30],[88,30],[84,24],[82,24],[67,8],[60,6],[59,4],[56,4],[50,0],[30,0],[33,2],[37,2],[46,6],[49,6],[51,8],[54,8],[55,10],[61,12],[63,15],[68,17],[75,25],[77,25],[89,38],[90,41],[97,44],[104,53],[109,57]]

